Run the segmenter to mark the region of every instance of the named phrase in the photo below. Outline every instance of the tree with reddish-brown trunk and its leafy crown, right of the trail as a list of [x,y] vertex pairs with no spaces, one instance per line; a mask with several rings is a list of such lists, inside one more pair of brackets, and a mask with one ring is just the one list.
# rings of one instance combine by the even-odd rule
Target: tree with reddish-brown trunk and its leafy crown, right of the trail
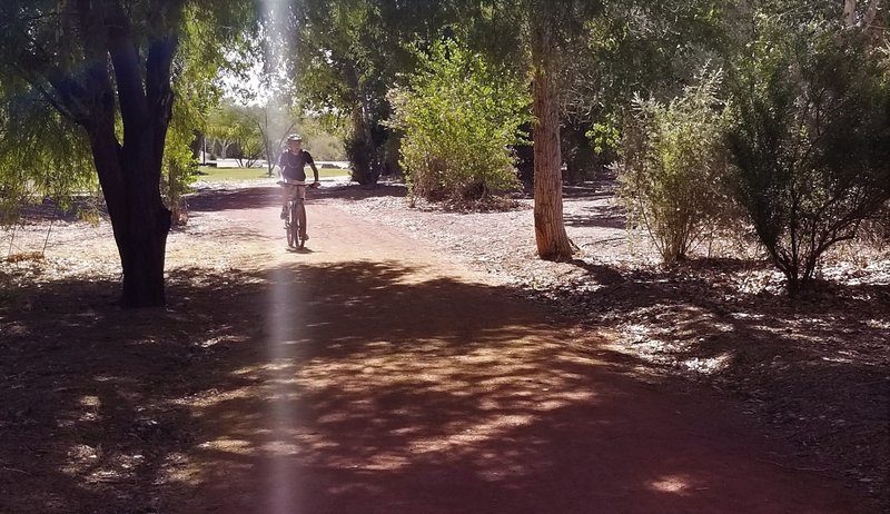
[[[535,236],[544,259],[566,260],[572,244],[562,214],[560,128],[567,119],[597,123],[617,142],[621,111],[634,92],[678,93],[700,69],[692,59],[714,39],[723,0],[453,2],[471,42],[533,75]],[[465,28],[465,29],[464,29]],[[691,61],[695,60],[694,63]],[[666,77],[660,75],[670,70]],[[678,72],[680,71],[680,72]]]

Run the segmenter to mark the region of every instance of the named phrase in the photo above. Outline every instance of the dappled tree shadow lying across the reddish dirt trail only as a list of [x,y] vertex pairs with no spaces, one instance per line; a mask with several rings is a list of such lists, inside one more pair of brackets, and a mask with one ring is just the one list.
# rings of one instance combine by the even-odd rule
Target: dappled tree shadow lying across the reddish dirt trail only
[[[269,344],[284,358],[241,370],[277,379],[265,402],[237,395],[206,414],[225,421],[211,423],[218,443],[205,457],[215,463],[205,482],[225,484],[209,496],[228,492],[212,508],[770,512],[777,484],[804,501],[798,477],[765,478],[771,465],[742,457],[744,423],[709,415],[713,398],[554,340],[541,313],[502,289],[418,284],[395,264],[273,277],[299,299],[276,309],[288,329],[271,329]],[[332,309],[335,320],[323,315]],[[233,425],[264,406],[286,419],[278,434]],[[249,486],[233,491],[239,474]],[[839,508],[825,501],[817,510]]]

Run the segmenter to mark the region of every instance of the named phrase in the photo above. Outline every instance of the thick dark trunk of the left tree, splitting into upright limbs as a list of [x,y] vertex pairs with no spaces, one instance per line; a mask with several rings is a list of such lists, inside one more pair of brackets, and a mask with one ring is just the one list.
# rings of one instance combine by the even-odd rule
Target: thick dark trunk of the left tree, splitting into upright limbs
[[[112,11],[109,56],[123,125],[123,144],[117,142],[107,117],[98,127],[92,151],[102,182],[115,239],[123,270],[125,307],[157,307],[166,303],[164,263],[170,210],[160,195],[161,165],[167,128],[172,118],[170,66],[178,46],[175,34],[158,38],[139,55],[122,9]],[[109,130],[110,128],[110,130]],[[117,150],[117,151],[115,151]],[[115,158],[116,157],[116,158]],[[105,171],[99,169],[99,166]],[[119,177],[119,178],[118,178]],[[113,210],[111,204],[115,205]]]

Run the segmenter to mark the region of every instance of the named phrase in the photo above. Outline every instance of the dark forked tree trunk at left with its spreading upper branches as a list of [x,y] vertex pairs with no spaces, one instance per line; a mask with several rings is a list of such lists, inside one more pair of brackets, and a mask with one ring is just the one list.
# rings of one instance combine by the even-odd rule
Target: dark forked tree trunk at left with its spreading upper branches
[[[126,307],[165,303],[164,261],[171,212],[161,199],[160,179],[172,117],[170,77],[182,4],[158,2],[155,7],[162,23],[146,38],[135,33],[130,12],[120,1],[59,2],[60,18],[66,20],[59,37],[79,38],[79,46],[60,58],[63,67],[50,66],[39,80],[29,79],[39,83],[38,90],[61,116],[88,135],[120,255]],[[71,30],[75,24],[77,30]],[[69,73],[68,67],[78,71]]]

